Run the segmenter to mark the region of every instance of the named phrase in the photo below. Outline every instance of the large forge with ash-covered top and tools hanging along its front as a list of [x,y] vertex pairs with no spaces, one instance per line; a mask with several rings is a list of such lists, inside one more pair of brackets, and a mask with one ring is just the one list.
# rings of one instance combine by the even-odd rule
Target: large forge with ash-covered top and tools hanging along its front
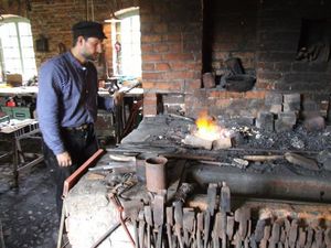
[[[119,209],[130,236],[120,227],[104,236],[99,247],[329,242],[329,129],[271,132],[217,118],[233,142],[213,150],[183,142],[196,131],[195,122],[175,115],[145,118],[92,164],[64,201],[73,247],[98,242],[119,225]],[[163,161],[166,171],[147,174],[149,158],[166,158],[152,160]]]

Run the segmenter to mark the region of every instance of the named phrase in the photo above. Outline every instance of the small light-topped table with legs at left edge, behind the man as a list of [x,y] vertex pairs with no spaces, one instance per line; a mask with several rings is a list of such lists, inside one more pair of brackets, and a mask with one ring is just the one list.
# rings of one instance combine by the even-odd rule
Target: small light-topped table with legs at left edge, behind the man
[[[32,139],[38,137],[39,123],[34,119],[25,119],[22,121],[10,120],[7,123],[1,123],[0,128],[0,141],[10,143],[10,151],[6,151],[1,154],[0,159],[12,155],[12,172],[14,186],[19,185],[19,173],[26,171],[35,164],[43,161],[43,155],[40,153],[25,153],[21,147],[21,140]],[[26,161],[25,155],[33,155],[32,161]]]

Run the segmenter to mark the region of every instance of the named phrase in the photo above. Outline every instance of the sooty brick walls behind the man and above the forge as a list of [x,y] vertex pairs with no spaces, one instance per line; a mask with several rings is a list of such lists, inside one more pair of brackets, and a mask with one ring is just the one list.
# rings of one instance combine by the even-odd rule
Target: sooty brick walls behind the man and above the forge
[[[57,54],[60,42],[71,47],[71,26],[86,19],[86,1],[30,2],[31,11],[11,9],[31,20],[34,40],[40,34],[49,39],[50,52],[36,53],[40,66]],[[107,19],[111,8],[138,4],[135,0],[116,2],[95,0],[95,20]],[[320,108],[328,106],[331,62],[296,61],[296,56],[303,19],[322,19],[330,26],[329,1],[213,0],[202,6],[200,0],[141,0],[139,4],[145,115],[174,111],[195,117],[207,109],[212,115],[256,116],[268,91],[300,93],[302,99],[313,100]],[[105,31],[110,37],[109,24]],[[108,39],[105,54],[109,72],[110,45]],[[221,76],[231,57],[239,57],[245,72],[256,75],[255,87],[247,93],[203,88],[202,72]]]

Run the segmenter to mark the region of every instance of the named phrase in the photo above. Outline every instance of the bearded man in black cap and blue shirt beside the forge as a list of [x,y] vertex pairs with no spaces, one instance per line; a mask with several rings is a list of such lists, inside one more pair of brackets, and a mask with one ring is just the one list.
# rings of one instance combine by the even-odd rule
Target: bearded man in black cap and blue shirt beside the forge
[[[92,63],[106,39],[103,25],[83,21],[73,25],[71,51],[40,69],[36,110],[44,140],[46,163],[54,172],[56,204],[62,209],[63,183],[98,149],[94,122],[98,108],[97,71]],[[106,109],[114,108],[122,94],[115,94]]]

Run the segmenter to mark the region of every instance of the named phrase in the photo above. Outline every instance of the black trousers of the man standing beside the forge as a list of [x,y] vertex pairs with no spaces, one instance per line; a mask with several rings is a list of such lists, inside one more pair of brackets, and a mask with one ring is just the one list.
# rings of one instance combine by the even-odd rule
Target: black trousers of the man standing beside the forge
[[86,130],[62,129],[61,136],[64,147],[72,158],[73,163],[71,166],[58,166],[53,151],[45,143],[43,148],[45,163],[51,171],[51,176],[56,188],[56,208],[58,216],[61,216],[62,212],[64,181],[98,150],[98,142],[93,126],[89,126]]

